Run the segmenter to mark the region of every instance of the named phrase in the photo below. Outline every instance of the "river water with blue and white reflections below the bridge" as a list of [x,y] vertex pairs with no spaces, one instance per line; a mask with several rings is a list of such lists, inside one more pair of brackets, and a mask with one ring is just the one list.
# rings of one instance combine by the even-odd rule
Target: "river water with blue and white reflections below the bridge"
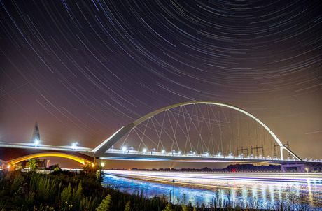
[[[246,181],[237,181],[235,177],[214,179],[208,175],[207,177],[197,174],[190,176],[184,173],[169,175],[148,172],[148,175],[139,176],[129,171],[105,171],[105,173],[103,183],[105,185],[112,185],[130,194],[141,194],[143,190],[144,196],[148,198],[165,195],[169,200],[171,193],[171,201],[174,203],[178,201],[183,203],[185,197],[186,204],[204,203],[208,207],[210,204],[214,205],[216,201],[216,204],[221,206],[230,202],[243,208],[258,206],[258,208],[274,209],[283,202],[284,206],[291,207],[293,210],[300,210],[303,206],[311,210],[322,210],[321,180],[267,183],[265,181],[248,182],[249,177]],[[174,184],[172,178],[176,180]]]

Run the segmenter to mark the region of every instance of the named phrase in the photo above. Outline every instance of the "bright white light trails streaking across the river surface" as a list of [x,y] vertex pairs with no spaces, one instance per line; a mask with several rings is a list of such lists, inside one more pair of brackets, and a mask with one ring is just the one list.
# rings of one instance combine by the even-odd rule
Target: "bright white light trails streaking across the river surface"
[[146,185],[143,189],[149,183],[155,183],[160,187],[188,187],[200,194],[205,190],[214,194],[219,191],[225,193],[225,198],[232,197],[233,201],[241,201],[244,205],[259,198],[263,208],[284,202],[301,204],[303,200],[312,208],[322,207],[322,173],[191,173],[139,170],[104,170],[104,173],[144,182]]

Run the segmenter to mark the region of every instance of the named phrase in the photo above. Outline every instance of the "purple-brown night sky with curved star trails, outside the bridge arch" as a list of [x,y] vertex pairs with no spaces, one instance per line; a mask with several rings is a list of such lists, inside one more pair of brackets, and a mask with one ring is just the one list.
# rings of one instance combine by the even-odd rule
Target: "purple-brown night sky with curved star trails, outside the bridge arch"
[[321,1],[1,1],[0,142],[96,147],[184,101],[322,159]]

